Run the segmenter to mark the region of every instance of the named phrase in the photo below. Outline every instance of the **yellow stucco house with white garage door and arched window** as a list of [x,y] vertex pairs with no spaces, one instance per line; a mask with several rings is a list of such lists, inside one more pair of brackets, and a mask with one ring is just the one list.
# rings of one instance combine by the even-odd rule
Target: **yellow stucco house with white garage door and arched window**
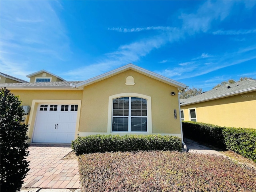
[[185,84],[133,64],[86,81],[35,82],[48,74],[30,74],[30,83],[2,85],[30,107],[25,116],[29,142],[70,143],[92,134],[182,138],[178,90]]

